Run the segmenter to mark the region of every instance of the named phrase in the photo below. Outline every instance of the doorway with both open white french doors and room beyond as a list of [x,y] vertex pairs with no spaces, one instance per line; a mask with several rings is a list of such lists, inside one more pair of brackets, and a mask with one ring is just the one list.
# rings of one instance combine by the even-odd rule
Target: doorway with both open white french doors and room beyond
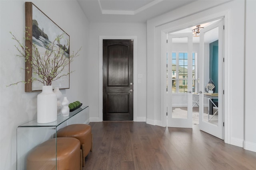
[[[200,129],[205,128],[206,132],[208,127],[219,127],[217,129],[221,129],[222,133],[217,137],[223,139],[224,100],[222,94],[218,95],[218,90],[222,92],[224,89],[222,29],[223,19],[218,19],[200,26],[166,32],[168,127],[192,127],[192,124],[199,124],[200,127],[202,124]],[[189,39],[192,30],[197,30],[197,33],[192,38],[191,46]]]

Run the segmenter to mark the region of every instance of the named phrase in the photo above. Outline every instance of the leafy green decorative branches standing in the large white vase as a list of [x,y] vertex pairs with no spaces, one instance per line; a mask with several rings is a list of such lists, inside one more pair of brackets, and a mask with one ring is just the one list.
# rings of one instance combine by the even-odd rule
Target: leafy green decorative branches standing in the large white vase
[[[27,29],[30,29],[29,27],[26,27],[26,33],[28,33]],[[73,62],[75,57],[79,56],[80,49],[78,51],[72,53],[72,55],[69,54],[69,49],[66,47],[69,47],[69,40],[67,44],[62,45],[60,41],[64,38],[64,33],[61,35],[56,36],[54,41],[52,43],[49,43],[46,46],[46,51],[44,53],[44,56],[40,56],[40,53],[38,52],[38,48],[35,44],[32,45],[33,55],[32,55],[32,61],[29,60],[30,54],[28,51],[28,47],[26,47],[23,43],[21,43],[13,34],[12,39],[14,39],[19,47],[14,45],[16,47],[17,51],[19,52],[19,57],[24,57],[25,62],[30,62],[29,64],[32,67],[32,73],[37,75],[38,77],[34,77],[32,75],[31,80],[28,80],[28,82],[33,81],[39,81],[42,82],[43,85],[51,85],[53,81],[58,80],[59,78],[63,76],[67,76],[70,73],[74,71],[69,71],[68,73],[63,73],[62,71],[64,68]],[[24,39],[31,41],[28,37],[25,37]],[[28,69],[28,68],[25,68]],[[12,86],[15,84],[18,84],[20,82],[28,83],[25,81],[19,81],[13,84],[9,84],[7,86]]]

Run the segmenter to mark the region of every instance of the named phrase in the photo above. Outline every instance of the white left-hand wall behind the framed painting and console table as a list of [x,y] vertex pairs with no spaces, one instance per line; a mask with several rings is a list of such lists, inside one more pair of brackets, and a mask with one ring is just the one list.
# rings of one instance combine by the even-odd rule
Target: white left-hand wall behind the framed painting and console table
[[[36,97],[40,92],[24,92],[24,84],[6,85],[24,80],[24,59],[18,52],[9,31],[21,41],[25,30],[25,1],[0,1],[0,169],[16,169],[16,128],[36,119]],[[88,105],[88,39],[89,23],[76,1],[32,1],[59,27],[70,35],[70,51],[82,47],[70,70],[70,89],[61,90],[70,102],[79,100]],[[72,11],[72,12],[70,12]]]

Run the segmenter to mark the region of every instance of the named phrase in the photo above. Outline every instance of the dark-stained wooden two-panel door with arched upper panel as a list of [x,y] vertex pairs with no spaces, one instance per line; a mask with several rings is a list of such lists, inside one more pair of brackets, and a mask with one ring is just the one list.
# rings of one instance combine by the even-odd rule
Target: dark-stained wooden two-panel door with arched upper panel
[[103,40],[103,120],[133,120],[133,40]]

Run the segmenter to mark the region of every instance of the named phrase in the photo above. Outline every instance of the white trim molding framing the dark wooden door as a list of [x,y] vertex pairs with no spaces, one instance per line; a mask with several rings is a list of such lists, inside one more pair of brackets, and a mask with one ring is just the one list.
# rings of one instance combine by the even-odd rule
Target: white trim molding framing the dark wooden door
[[[107,36],[107,35],[100,35],[99,37],[99,118],[98,121],[103,121],[103,92],[102,92],[102,87],[103,87],[103,73],[102,73],[102,66],[103,66],[103,39],[133,39],[133,121],[138,121],[137,120],[137,36]],[[95,118],[92,118],[93,120],[96,121]],[[91,118],[90,118],[91,120]],[[141,120],[141,119],[140,119]]]

